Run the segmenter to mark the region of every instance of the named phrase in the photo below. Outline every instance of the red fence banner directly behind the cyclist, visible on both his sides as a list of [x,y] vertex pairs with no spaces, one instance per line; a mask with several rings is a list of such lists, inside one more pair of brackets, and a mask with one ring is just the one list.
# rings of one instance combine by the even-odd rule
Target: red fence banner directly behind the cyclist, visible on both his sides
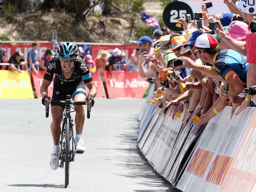
[[[43,83],[43,78],[45,76],[45,71],[39,71],[38,76],[35,76],[35,74],[32,72],[32,77],[35,85],[35,90],[37,92],[37,97],[42,98],[41,93],[40,93],[40,87]],[[102,80],[100,78],[100,75],[98,72],[96,72],[94,75],[92,75],[93,81],[95,83],[95,87],[97,89],[97,95],[96,98],[106,98],[106,94],[103,88]],[[52,97],[52,90],[53,90],[53,80],[51,85],[48,87],[48,95]],[[87,89],[87,93],[89,90]]]

